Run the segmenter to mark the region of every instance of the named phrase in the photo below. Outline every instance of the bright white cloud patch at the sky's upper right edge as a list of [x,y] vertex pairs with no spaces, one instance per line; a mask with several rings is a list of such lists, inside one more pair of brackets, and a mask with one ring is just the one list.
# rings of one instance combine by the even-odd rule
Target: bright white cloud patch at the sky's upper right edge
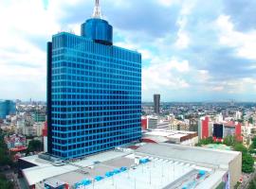
[[227,15],[220,15],[216,20],[216,26],[220,32],[221,44],[236,48],[239,57],[256,60],[256,29],[248,32],[236,31]]

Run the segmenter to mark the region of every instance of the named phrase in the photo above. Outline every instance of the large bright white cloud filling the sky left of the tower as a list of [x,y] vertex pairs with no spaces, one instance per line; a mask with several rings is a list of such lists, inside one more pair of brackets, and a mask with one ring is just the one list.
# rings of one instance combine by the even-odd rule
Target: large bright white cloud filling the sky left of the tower
[[[42,46],[62,28],[58,19],[63,6],[74,6],[80,0],[1,1],[0,7],[0,98],[46,99],[46,51]],[[76,28],[76,27],[75,27]],[[44,43],[45,42],[45,43]]]

